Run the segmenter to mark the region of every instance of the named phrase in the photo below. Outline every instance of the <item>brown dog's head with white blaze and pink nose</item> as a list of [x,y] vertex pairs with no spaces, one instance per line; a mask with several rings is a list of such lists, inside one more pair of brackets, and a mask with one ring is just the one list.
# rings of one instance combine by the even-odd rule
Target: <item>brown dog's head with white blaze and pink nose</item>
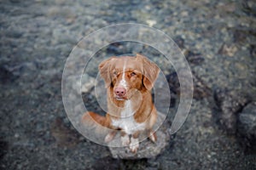
[[136,57],[111,57],[99,65],[107,88],[113,88],[113,97],[129,99],[131,91],[151,90],[159,74],[157,65],[141,54]]

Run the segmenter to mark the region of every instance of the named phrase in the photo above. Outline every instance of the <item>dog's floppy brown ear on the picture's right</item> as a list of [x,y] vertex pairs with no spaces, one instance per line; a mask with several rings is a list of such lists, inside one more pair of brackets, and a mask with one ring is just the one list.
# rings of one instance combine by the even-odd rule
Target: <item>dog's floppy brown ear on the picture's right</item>
[[158,77],[160,69],[153,62],[149,61],[147,57],[144,57],[141,54],[137,54],[136,57],[143,62],[143,85],[148,90],[151,90]]

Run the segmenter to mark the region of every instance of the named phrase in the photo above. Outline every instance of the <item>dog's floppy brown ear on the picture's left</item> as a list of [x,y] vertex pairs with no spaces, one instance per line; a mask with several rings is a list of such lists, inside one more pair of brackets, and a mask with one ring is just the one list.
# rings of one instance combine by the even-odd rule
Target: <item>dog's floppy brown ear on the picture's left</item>
[[113,57],[106,59],[102,61],[102,63],[99,65],[99,71],[100,71],[101,77],[105,81],[106,88],[108,88],[111,84],[110,67],[111,67],[112,59]]

